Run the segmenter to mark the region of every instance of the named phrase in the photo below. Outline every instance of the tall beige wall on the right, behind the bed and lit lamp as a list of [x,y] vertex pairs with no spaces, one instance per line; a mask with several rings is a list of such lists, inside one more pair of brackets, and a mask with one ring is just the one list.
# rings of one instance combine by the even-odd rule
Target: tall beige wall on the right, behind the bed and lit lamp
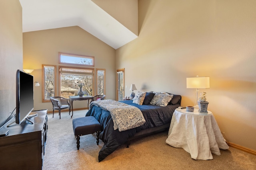
[[186,77],[210,76],[200,92],[224,137],[256,150],[256,1],[138,0],[138,16],[139,37],[116,50],[126,96],[134,83],[193,105]]

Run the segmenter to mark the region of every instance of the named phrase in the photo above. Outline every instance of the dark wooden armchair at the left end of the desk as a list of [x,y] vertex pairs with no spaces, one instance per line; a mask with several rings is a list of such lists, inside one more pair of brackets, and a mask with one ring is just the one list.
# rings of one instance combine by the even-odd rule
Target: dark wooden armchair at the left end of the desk
[[54,110],[59,111],[60,115],[60,110],[62,109],[68,109],[69,115],[70,115],[70,102],[69,99],[55,96],[55,97],[50,97],[50,100],[52,102],[52,117],[54,116]]

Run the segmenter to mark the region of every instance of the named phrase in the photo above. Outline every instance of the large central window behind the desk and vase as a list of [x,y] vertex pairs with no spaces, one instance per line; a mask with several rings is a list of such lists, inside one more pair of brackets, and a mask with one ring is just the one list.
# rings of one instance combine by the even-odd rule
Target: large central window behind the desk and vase
[[78,83],[85,94],[93,96],[94,68],[60,67],[60,96],[77,96]]

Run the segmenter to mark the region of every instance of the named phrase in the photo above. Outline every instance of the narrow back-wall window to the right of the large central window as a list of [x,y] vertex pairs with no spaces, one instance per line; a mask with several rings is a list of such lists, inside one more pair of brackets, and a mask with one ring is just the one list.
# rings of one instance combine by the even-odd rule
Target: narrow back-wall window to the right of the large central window
[[105,94],[105,69],[96,68],[96,94]]

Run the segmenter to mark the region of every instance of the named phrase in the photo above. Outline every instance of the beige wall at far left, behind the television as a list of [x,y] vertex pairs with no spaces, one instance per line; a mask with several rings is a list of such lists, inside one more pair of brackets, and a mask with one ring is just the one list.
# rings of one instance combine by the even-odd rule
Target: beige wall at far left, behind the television
[[22,8],[18,0],[0,1],[0,61],[1,127],[16,107],[16,71],[22,69]]

